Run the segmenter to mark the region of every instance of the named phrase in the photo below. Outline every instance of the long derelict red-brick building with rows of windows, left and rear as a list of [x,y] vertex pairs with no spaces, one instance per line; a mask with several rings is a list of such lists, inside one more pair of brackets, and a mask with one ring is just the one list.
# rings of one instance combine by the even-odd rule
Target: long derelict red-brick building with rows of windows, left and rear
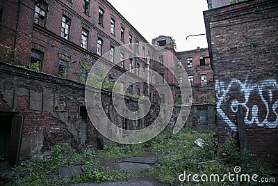
[[[141,67],[158,71],[174,98],[179,98],[179,79],[160,65],[163,56],[155,54],[149,45],[139,45],[147,40],[106,0],[1,1],[0,25],[0,116],[8,123],[1,130],[5,131],[1,138],[7,141],[1,150],[13,151],[14,162],[19,154],[27,155],[67,139],[96,144],[98,134],[89,125],[85,110],[84,83],[88,67],[106,52],[106,63],[115,63],[108,79],[114,81],[124,72],[138,79],[132,86],[126,86],[126,79],[121,84],[124,91],[147,95],[152,102],[161,101],[154,87],[142,83],[148,78],[154,83],[156,79],[147,70],[133,70]],[[159,36],[153,40],[154,44],[157,42],[180,60],[173,60],[171,68],[182,64],[188,70],[188,81],[193,86],[191,101],[207,102],[213,94],[208,49],[176,52],[172,38]],[[120,45],[128,45],[128,52],[115,56],[115,48]],[[110,102],[109,93],[104,91],[104,95],[104,102]],[[134,109],[133,102],[129,98],[129,107]],[[203,114],[206,105],[200,108],[202,125],[213,125],[213,118]],[[197,116],[191,117],[195,125],[200,123]],[[141,122],[146,123],[148,117]]]

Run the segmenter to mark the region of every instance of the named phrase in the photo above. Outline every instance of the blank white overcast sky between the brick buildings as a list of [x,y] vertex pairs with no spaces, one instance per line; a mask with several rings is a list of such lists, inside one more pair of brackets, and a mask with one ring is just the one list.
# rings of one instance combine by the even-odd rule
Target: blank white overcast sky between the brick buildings
[[157,36],[172,36],[179,52],[207,47],[203,11],[206,0],[108,0],[150,43]]

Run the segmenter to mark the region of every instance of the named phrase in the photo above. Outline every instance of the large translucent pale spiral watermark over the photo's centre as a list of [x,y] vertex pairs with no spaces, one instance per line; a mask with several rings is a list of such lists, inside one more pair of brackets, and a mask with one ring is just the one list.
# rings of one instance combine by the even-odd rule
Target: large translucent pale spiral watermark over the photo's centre
[[[157,45],[149,45],[149,43],[131,45],[111,48],[111,51],[101,56],[92,65],[85,86],[85,105],[90,121],[104,137],[121,144],[140,144],[156,137],[170,122],[174,107],[174,97],[170,85],[165,81],[163,75],[154,70],[154,64],[159,63],[158,67],[164,68],[165,76],[172,74],[172,77],[179,83],[181,98],[186,100],[186,107],[181,107],[173,128],[173,133],[176,134],[183,127],[190,113],[192,92],[186,70],[170,50]],[[147,56],[145,56],[145,52]],[[119,65],[122,68],[129,68],[121,74],[120,70],[117,71]],[[115,66],[117,67],[115,68]],[[116,76],[111,90],[112,104],[109,102],[104,104],[101,102],[101,98],[103,98],[101,91],[111,74]],[[129,87],[140,87],[139,91],[142,90],[142,84],[146,86],[146,95],[141,93],[138,99],[139,109],[131,111],[126,107],[124,94]],[[151,108],[149,95],[154,90],[164,100],[159,105],[159,113],[155,121],[148,123],[147,127],[140,130],[127,130],[126,127],[123,127],[123,122],[119,118],[138,123],[140,119],[147,116]],[[117,115],[114,117],[116,119],[111,120],[107,116],[111,112],[113,116]]]

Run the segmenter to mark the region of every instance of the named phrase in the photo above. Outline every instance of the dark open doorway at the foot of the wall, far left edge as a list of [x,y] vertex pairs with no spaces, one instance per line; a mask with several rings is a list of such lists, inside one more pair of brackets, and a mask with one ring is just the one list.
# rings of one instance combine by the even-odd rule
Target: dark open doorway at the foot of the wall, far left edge
[[0,112],[0,155],[15,165],[19,159],[23,117]]

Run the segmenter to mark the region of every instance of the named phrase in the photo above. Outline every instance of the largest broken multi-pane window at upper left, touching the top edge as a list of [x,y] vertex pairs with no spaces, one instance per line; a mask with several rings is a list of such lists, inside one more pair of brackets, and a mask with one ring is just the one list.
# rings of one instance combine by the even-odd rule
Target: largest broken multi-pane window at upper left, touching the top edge
[[45,26],[45,20],[47,17],[47,3],[44,1],[39,1],[35,3],[35,16],[34,22],[40,24],[40,26]]

